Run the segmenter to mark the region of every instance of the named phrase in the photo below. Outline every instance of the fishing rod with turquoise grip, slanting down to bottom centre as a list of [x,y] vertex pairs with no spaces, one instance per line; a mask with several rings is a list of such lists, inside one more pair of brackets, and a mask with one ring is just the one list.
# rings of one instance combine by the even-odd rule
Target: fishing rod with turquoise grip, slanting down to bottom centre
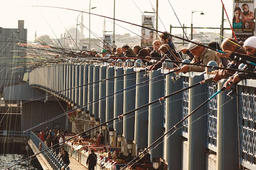
[[[211,79],[211,78],[210,78]],[[204,80],[204,81],[208,81],[208,79]],[[210,81],[210,80],[209,80]],[[199,82],[201,83],[201,82]],[[228,86],[231,85],[232,82],[229,82]],[[194,84],[195,85],[195,84]],[[190,87],[190,86],[189,86]],[[171,129],[169,129],[167,132],[165,132],[161,137],[159,137],[156,141],[154,141],[152,144],[150,144],[150,146],[148,146],[147,148],[145,148],[141,153],[139,153],[139,155],[137,155],[134,159],[132,159],[129,163],[127,163],[124,167],[122,167],[121,170],[124,170],[124,168],[126,168],[130,163],[132,163],[133,161],[135,161],[137,158],[139,158],[140,155],[144,154],[144,152],[148,152],[147,150],[149,148],[151,148],[153,145],[157,144],[158,141],[160,141],[165,135],[167,135],[169,132],[171,132],[174,129],[177,129],[177,126],[179,126],[184,120],[186,120],[188,117],[190,117],[191,115],[193,115],[198,109],[200,109],[202,106],[204,106],[204,104],[206,104],[207,102],[209,102],[213,97],[215,97],[216,95],[218,95],[220,92],[224,91],[227,87],[222,87],[219,91],[217,91],[216,93],[214,93],[211,97],[209,97],[205,102],[203,102],[200,106],[198,106],[197,108],[195,108],[195,110],[193,110],[191,113],[189,113],[188,115],[186,115],[183,119],[181,119],[177,124],[175,124]],[[159,99],[160,101],[160,99]]]

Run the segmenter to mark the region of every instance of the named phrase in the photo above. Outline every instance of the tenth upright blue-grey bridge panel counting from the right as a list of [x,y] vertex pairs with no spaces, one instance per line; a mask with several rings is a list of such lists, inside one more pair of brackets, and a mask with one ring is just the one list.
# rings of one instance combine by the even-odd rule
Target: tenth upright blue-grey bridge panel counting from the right
[[92,104],[92,113],[94,114],[95,118],[99,118],[99,67],[100,66],[95,66],[93,68],[93,82],[97,82],[92,84],[93,86],[92,101],[97,101],[97,102],[93,102]]

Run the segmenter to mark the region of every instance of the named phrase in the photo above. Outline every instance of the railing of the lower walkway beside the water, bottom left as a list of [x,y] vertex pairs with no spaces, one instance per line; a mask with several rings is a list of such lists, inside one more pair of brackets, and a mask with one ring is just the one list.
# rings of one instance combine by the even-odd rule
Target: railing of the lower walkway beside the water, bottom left
[[44,150],[42,152],[45,159],[49,162],[49,164],[52,166],[54,170],[61,170],[61,168],[64,166],[65,170],[70,170],[70,168],[65,164],[58,155],[54,153],[53,150],[50,148],[47,150],[48,146],[39,139],[37,135],[34,134],[34,132],[31,132],[31,138],[30,138],[36,147],[39,149],[39,144],[42,144],[41,150]]

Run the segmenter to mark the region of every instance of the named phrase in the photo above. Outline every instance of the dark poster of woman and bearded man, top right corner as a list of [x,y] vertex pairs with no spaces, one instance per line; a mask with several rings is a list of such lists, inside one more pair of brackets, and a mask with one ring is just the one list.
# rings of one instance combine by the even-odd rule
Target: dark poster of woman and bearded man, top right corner
[[255,0],[234,0],[233,30],[238,41],[254,35],[254,6]]

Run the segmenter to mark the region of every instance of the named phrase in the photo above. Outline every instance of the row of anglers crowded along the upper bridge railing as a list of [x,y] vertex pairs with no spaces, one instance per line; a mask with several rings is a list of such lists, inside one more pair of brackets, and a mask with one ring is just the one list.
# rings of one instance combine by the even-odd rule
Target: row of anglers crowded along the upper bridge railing
[[[248,11],[249,14],[252,15],[253,12],[249,11],[249,8],[247,5],[243,5],[243,12],[240,10],[239,16],[242,15],[243,20],[246,19],[246,11]],[[236,15],[235,15],[236,16]],[[249,17],[247,17],[249,20]],[[237,21],[239,22],[239,21]],[[239,64],[243,62],[243,60],[238,61],[236,58],[234,58],[234,53],[239,53],[236,55],[239,55],[240,58],[244,60],[249,60],[249,62],[254,62],[254,57],[247,57],[247,56],[255,56],[256,53],[254,53],[254,50],[256,48],[256,42],[253,42],[256,37],[252,36],[250,38],[247,38],[245,42],[238,42],[234,38],[225,38],[225,40],[222,42],[222,44],[218,44],[218,42],[210,42],[208,44],[209,48],[202,44],[199,40],[193,39],[189,42],[188,48],[184,48],[181,50],[177,50],[171,35],[168,32],[164,32],[159,35],[160,40],[154,40],[152,42],[153,50],[149,48],[142,48],[139,45],[134,45],[132,48],[124,43],[120,47],[113,47],[110,49],[103,49],[101,51],[101,55],[97,54],[96,49],[92,48],[88,55],[92,57],[104,57],[104,58],[112,58],[114,62],[117,59],[122,60],[123,62],[126,62],[127,60],[130,60],[131,62],[135,62],[135,60],[132,60],[133,58],[140,58],[144,64],[145,67],[148,68],[148,71],[157,70],[158,68],[162,67],[162,62],[164,62],[166,59],[170,59],[173,62],[173,69],[177,70],[177,73],[183,72],[187,73],[189,71],[194,72],[203,72],[205,71],[205,67],[208,62],[215,61],[219,66],[223,67],[223,69],[220,69],[216,71],[216,75],[214,76],[213,80],[218,82],[220,79],[224,79],[227,77],[230,77],[232,79],[232,82],[238,82],[241,79],[245,78],[254,78],[254,73],[238,73],[236,71],[230,71],[225,68],[234,68],[238,69]],[[245,44],[244,44],[245,43]],[[254,44],[255,43],[255,44]],[[106,46],[107,47],[107,46]],[[110,48],[110,46],[109,46]],[[226,52],[224,53],[217,53],[213,49],[218,49],[220,51]],[[249,50],[247,49],[249,48]],[[82,52],[85,54],[85,52]],[[244,54],[244,55],[240,55]],[[188,58],[190,60],[190,63],[192,64],[201,64],[202,66],[198,65],[186,65],[184,64],[182,67],[180,67],[180,62],[184,60],[185,58]],[[251,64],[247,64],[243,70],[249,70],[254,72],[254,66]],[[255,62],[254,62],[255,63]],[[112,63],[109,63],[111,65]],[[115,64],[112,64],[115,65]],[[124,65],[123,65],[124,66]],[[234,75],[233,75],[234,74]],[[243,76],[242,76],[243,75]],[[228,82],[231,80],[229,79]],[[227,85],[227,84],[225,84]],[[230,87],[227,87],[229,89]]]

